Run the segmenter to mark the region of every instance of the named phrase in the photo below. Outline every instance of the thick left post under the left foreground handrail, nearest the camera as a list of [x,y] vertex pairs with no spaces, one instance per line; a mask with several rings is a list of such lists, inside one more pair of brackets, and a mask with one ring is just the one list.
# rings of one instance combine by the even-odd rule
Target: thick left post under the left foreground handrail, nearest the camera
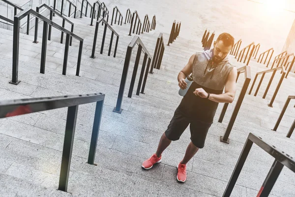
[[67,191],[69,180],[77,113],[78,105],[68,107],[59,176],[59,190],[64,192]]

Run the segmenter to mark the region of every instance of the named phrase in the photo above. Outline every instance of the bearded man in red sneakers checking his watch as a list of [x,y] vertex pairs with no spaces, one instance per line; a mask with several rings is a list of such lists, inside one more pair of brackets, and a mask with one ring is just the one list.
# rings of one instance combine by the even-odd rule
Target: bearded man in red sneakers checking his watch
[[[161,162],[162,152],[171,141],[178,140],[190,124],[191,142],[184,158],[177,165],[177,180],[186,180],[186,164],[204,147],[219,102],[232,103],[236,95],[236,67],[228,61],[228,54],[234,46],[234,38],[222,33],[213,44],[214,48],[192,55],[178,74],[178,86],[187,87],[185,78],[192,73],[193,83],[177,107],[174,116],[163,133],[158,149],[142,167],[149,169]],[[225,89],[225,93],[223,90]]]

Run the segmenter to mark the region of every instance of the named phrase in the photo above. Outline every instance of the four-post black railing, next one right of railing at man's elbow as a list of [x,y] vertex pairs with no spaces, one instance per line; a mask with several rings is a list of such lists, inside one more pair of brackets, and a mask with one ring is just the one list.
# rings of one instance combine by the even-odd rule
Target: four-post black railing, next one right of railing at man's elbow
[[269,87],[270,87],[270,85],[271,85],[271,83],[272,83],[272,80],[273,80],[273,78],[274,78],[274,75],[275,75],[276,71],[277,71],[277,70],[280,70],[280,69],[282,70],[282,76],[281,76],[280,81],[279,81],[279,83],[277,84],[277,87],[276,87],[276,89],[275,89],[275,91],[274,91],[274,94],[273,94],[273,96],[272,96],[272,98],[271,98],[271,100],[270,100],[270,102],[269,102],[269,104],[268,104],[269,107],[272,107],[272,103],[273,103],[273,101],[274,101],[274,99],[275,99],[275,97],[276,97],[276,95],[277,95],[277,93],[278,93],[278,91],[279,91],[279,89],[280,89],[280,86],[281,86],[281,84],[282,84],[282,82],[283,82],[283,80],[284,80],[284,76],[285,76],[285,74],[286,74],[286,70],[285,70],[284,66],[280,66],[280,67],[272,68],[272,69],[265,70],[265,71],[262,71],[262,72],[257,72],[256,75],[255,75],[255,78],[254,78],[253,84],[252,84],[252,86],[251,86],[251,89],[250,89],[250,91],[249,91],[249,95],[251,95],[251,92],[252,92],[252,90],[253,90],[253,87],[254,87],[254,85],[255,85],[255,82],[256,82],[256,79],[257,79],[258,75],[262,74],[262,77],[261,77],[261,79],[260,79],[260,82],[259,82],[259,84],[258,84],[258,86],[257,86],[257,89],[256,89],[256,92],[255,92],[255,94],[254,94],[255,97],[256,97],[256,95],[257,95],[257,93],[258,93],[258,90],[259,90],[259,88],[260,88],[260,86],[261,86],[261,84],[262,84],[262,81],[263,81],[264,76],[266,75],[266,73],[268,73],[268,72],[272,72],[272,75],[271,75],[271,77],[270,77],[270,79],[269,79],[269,82],[268,82],[268,84],[267,84],[267,87],[266,87],[266,91],[265,91],[265,93],[264,93],[264,95],[263,95],[263,97],[262,97],[263,99],[265,99],[265,98],[266,98],[266,94],[267,94],[267,92],[268,92],[268,90],[269,90]]

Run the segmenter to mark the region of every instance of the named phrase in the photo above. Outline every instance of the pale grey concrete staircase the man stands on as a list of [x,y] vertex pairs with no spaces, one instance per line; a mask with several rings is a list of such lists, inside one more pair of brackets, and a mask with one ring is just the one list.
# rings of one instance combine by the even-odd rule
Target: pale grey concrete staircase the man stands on
[[[96,58],[91,59],[89,56],[95,26],[89,26],[90,18],[86,17],[69,20],[75,23],[74,33],[84,38],[81,77],[75,76],[78,42],[74,39],[69,51],[67,75],[61,74],[64,45],[59,43],[60,33],[53,28],[52,39],[47,44],[45,74],[39,73],[42,33],[38,34],[38,44],[32,43],[33,31],[30,35],[21,34],[19,80],[22,82],[17,86],[9,84],[13,34],[0,29],[0,99],[104,93],[106,97],[96,151],[97,166],[86,163],[94,118],[93,103],[79,106],[68,193],[57,191],[67,109],[0,119],[0,196],[221,197],[249,132],[261,136],[284,152],[295,155],[295,136],[290,139],[285,137],[295,118],[294,102],[290,103],[277,132],[270,130],[287,95],[295,95],[295,78],[292,74],[284,80],[273,108],[268,107],[267,102],[274,92],[279,74],[275,77],[266,99],[262,99],[270,77],[266,75],[258,96],[254,97],[253,93],[245,96],[230,135],[230,144],[219,141],[240,93],[243,84],[241,76],[237,82],[236,99],[229,105],[223,123],[217,122],[223,106],[220,104],[214,124],[207,135],[205,148],[187,164],[188,179],[184,184],[177,183],[176,166],[190,141],[189,128],[163,153],[161,164],[150,170],[143,170],[142,162],[155,152],[160,136],[167,129],[182,99],[177,94],[177,74],[192,54],[202,51],[199,42],[201,37],[187,40],[181,37],[180,32],[171,46],[165,46],[161,69],[154,69],[154,74],[148,74],[145,94],[140,96],[135,95],[140,73],[138,71],[134,94],[130,99],[127,98],[127,93],[135,61],[133,54],[122,103],[123,112],[117,114],[112,111],[118,97],[126,48],[133,38],[133,35],[128,36],[130,26],[113,26],[120,35],[116,58],[107,56],[110,31],[106,37],[104,54],[99,54],[103,33],[100,26]],[[58,17],[54,21],[61,24]],[[169,28],[167,32],[170,31]],[[42,23],[39,25],[39,31],[41,30]],[[151,55],[158,34],[156,29],[140,35]],[[168,38],[169,34],[164,33],[165,43]],[[237,67],[244,66],[237,63],[234,57],[230,59]],[[140,65],[141,63],[142,60]],[[250,66],[252,79],[256,72],[266,69],[254,60]],[[270,156],[254,146],[232,196],[256,196],[272,162]],[[272,197],[295,196],[294,183],[295,174],[284,168],[272,190]]]

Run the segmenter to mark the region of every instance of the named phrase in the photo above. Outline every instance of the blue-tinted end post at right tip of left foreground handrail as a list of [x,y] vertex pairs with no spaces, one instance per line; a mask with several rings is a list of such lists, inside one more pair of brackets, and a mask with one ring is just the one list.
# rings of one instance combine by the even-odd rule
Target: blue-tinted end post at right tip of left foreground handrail
[[88,162],[87,162],[88,164],[91,164],[91,165],[94,165],[94,160],[95,160],[95,153],[96,153],[100,123],[101,123],[103,102],[104,100],[96,102],[96,107],[95,107],[94,122],[93,122],[89,156],[88,156]]

